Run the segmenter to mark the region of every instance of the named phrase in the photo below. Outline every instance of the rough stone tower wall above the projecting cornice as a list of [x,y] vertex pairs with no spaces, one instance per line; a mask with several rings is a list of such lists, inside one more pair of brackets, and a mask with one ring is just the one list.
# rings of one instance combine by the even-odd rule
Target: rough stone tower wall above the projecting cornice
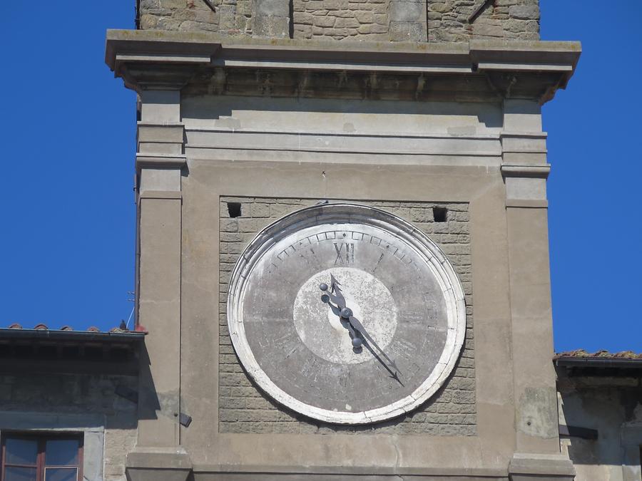
[[139,0],[138,28],[322,40],[539,40],[539,0]]

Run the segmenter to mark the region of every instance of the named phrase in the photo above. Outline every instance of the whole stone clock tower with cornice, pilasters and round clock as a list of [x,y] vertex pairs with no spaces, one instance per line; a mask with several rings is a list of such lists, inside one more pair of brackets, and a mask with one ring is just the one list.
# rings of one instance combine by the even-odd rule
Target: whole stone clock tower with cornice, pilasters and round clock
[[138,480],[572,480],[536,0],[140,0]]

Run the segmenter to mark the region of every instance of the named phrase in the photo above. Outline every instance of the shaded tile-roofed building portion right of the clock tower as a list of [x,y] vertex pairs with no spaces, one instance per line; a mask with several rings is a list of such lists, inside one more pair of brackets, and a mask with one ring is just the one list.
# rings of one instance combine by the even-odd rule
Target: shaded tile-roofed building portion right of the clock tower
[[578,350],[554,363],[561,449],[576,480],[642,479],[642,355]]

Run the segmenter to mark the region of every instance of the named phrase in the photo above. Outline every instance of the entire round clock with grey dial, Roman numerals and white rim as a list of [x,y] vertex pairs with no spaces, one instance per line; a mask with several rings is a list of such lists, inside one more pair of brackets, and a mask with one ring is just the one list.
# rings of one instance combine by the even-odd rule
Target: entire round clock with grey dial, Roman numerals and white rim
[[464,294],[422,232],[362,205],[307,207],[266,227],[232,274],[228,327],[275,400],[329,423],[417,408],[464,342]]

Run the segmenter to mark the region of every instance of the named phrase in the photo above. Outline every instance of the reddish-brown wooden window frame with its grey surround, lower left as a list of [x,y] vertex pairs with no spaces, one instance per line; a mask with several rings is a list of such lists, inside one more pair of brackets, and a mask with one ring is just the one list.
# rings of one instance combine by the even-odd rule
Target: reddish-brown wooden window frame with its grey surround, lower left
[[[64,466],[49,466],[49,467],[75,467],[76,468],[76,481],[83,480],[83,448],[84,448],[84,433],[77,432],[55,432],[55,431],[34,431],[25,433],[24,431],[6,431],[3,430],[0,435],[0,481],[4,481],[5,470],[7,467],[6,461],[6,440],[10,439],[24,439],[36,441],[37,454],[36,454],[36,480],[44,481],[46,465],[46,444],[51,440],[76,440],[78,441],[78,460],[76,465]],[[34,467],[34,465],[16,465],[9,463],[9,467]]]

